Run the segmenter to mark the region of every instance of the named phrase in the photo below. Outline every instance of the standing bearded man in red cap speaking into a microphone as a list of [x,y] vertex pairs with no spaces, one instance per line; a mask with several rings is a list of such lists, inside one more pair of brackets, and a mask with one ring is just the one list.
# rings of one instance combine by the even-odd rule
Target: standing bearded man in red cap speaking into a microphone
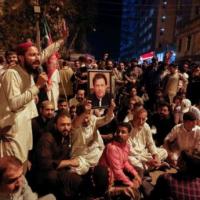
[[23,163],[32,149],[31,119],[37,116],[35,98],[48,77],[45,73],[33,77],[40,66],[40,54],[32,42],[17,48],[19,64],[3,74],[0,87],[1,156],[14,155]]

